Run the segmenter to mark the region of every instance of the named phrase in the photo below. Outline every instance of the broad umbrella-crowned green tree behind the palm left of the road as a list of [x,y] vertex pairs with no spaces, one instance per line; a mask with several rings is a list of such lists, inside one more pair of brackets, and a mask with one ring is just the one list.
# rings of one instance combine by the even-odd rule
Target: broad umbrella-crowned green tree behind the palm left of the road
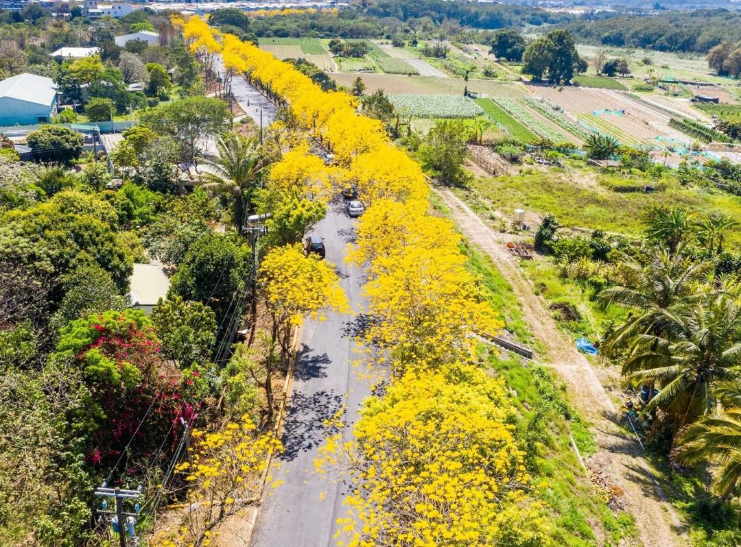
[[231,116],[224,101],[211,97],[188,97],[161,104],[142,115],[142,125],[173,138],[179,158],[190,164],[202,152],[208,136],[219,136],[229,127]]

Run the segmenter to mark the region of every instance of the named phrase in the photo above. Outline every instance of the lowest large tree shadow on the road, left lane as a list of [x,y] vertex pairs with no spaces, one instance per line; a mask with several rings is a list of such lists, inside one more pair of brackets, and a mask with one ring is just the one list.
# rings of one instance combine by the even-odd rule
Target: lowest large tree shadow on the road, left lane
[[325,426],[342,407],[342,397],[322,389],[312,394],[293,392],[286,406],[281,442],[285,451],[279,460],[290,461],[324,442],[332,426]]

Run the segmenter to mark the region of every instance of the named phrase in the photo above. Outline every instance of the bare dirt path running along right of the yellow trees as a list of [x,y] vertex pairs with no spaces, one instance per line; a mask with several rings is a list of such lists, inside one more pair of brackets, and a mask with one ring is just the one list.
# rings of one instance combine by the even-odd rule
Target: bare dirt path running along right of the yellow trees
[[530,331],[547,348],[542,356],[544,362],[568,384],[574,406],[592,424],[599,451],[589,458],[588,466],[604,469],[611,482],[625,491],[627,509],[635,519],[639,540],[645,547],[685,545],[682,523],[666,502],[641,449],[617,426],[617,409],[588,360],[556,326],[532,283],[522,277],[515,259],[505,249],[506,236],[486,226],[449,190],[434,189],[434,192],[451,210],[451,220],[465,238],[486,252],[511,284]]

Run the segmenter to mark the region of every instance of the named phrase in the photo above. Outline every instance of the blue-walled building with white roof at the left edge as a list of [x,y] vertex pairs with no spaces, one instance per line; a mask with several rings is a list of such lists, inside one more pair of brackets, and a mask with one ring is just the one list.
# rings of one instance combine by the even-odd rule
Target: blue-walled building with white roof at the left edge
[[51,78],[23,73],[0,81],[0,125],[51,121],[56,114],[56,84]]

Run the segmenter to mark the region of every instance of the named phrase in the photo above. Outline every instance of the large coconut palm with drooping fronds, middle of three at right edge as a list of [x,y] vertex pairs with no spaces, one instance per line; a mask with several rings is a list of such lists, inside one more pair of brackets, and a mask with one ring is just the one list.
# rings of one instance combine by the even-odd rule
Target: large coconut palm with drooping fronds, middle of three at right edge
[[644,414],[662,409],[676,430],[715,410],[714,389],[741,380],[741,307],[730,295],[662,310],[658,335],[636,335],[622,374],[637,384],[655,382],[658,394]]

